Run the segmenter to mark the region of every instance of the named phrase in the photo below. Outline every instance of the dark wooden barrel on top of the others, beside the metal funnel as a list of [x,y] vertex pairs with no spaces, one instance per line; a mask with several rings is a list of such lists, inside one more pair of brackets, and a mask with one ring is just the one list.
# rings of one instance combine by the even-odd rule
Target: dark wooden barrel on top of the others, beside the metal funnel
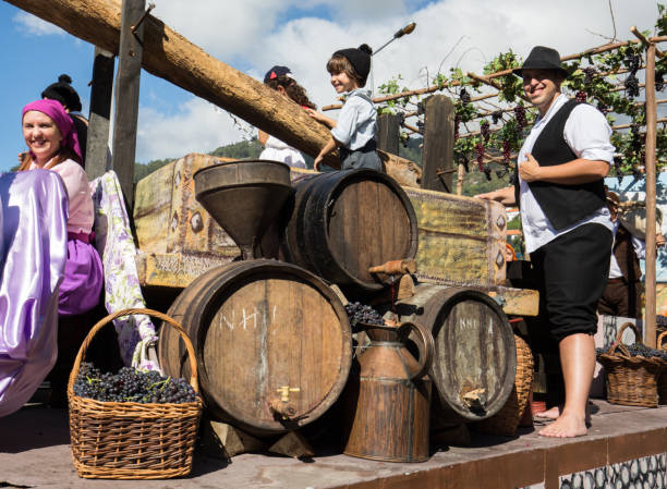
[[292,182],[294,208],[284,233],[286,260],[325,280],[378,291],[389,277],[368,268],[414,258],[414,208],[393,179],[374,170],[326,172]]

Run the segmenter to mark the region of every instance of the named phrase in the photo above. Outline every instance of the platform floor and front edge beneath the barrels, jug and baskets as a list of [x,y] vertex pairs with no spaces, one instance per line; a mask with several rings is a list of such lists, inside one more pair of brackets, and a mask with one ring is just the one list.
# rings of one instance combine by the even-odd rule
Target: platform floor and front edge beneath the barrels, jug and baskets
[[[78,478],[68,429],[65,409],[40,404],[0,418],[0,488],[565,489],[595,488],[603,479],[609,486],[599,487],[667,488],[667,406],[594,401],[586,437],[545,439],[532,428],[522,428],[513,438],[473,432],[470,447],[441,447],[421,464],[336,453],[305,461],[243,454],[227,462],[195,453],[190,477],[167,480]],[[616,484],[630,477],[640,485]]]

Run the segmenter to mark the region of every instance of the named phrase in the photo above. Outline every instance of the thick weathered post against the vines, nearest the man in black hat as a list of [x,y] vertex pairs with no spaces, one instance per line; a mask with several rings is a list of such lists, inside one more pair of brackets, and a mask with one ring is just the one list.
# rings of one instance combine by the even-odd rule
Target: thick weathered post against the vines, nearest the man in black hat
[[[422,188],[451,192],[453,173],[454,109],[444,95],[424,100]],[[439,172],[445,172],[438,175]]]

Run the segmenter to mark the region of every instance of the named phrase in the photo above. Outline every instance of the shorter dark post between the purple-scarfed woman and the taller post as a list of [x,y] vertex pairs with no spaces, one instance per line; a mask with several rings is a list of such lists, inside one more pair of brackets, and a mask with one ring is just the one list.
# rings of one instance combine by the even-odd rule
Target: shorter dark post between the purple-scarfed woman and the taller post
[[109,126],[111,95],[113,91],[113,54],[95,48],[93,62],[93,87],[90,88],[90,113],[88,114],[88,142],[86,148],[86,173],[90,180],[102,175],[109,168]]

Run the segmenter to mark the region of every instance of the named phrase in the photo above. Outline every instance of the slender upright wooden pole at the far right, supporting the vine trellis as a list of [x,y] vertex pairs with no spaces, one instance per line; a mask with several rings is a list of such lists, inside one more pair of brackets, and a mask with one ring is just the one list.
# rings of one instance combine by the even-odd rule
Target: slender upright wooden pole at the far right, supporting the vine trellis
[[657,108],[655,103],[655,44],[646,50],[646,313],[644,317],[644,338],[646,345],[656,346],[656,297],[655,297],[655,149],[657,131]]

